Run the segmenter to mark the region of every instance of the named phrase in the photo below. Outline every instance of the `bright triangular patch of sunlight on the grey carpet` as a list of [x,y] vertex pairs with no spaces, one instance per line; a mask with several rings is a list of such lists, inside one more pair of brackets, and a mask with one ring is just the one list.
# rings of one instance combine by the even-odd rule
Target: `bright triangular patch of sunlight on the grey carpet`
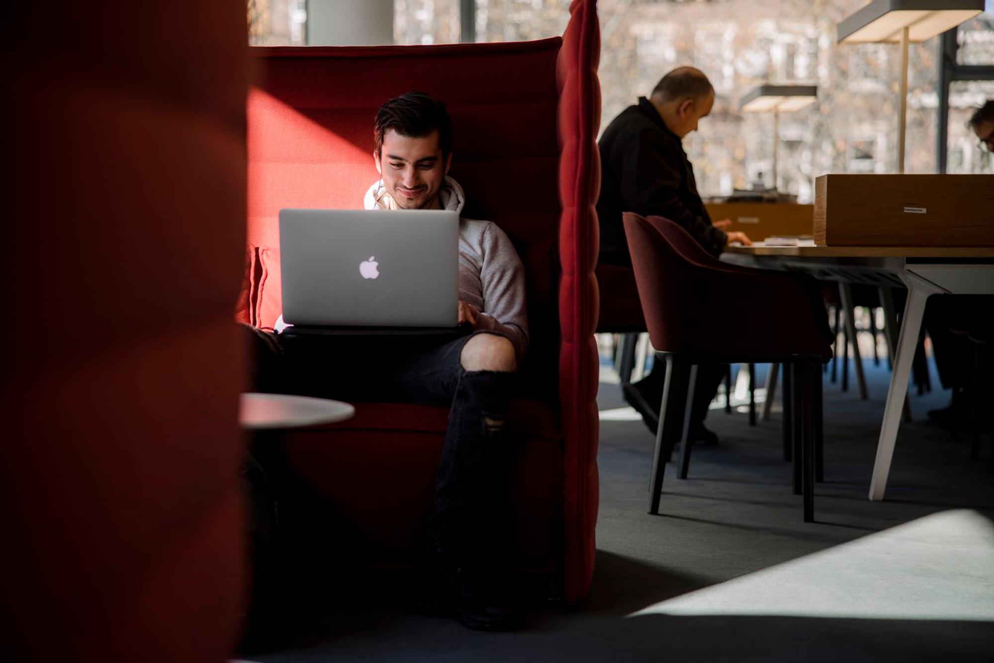
[[991,569],[994,523],[975,511],[946,511],[692,591],[629,616],[994,621]]

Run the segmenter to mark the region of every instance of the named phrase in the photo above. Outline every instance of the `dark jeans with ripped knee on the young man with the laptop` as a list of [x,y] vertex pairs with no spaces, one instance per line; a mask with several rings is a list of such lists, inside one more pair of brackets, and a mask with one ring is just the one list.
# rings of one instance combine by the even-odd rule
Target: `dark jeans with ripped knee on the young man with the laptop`
[[472,336],[293,336],[252,330],[261,391],[450,408],[425,528],[428,562],[487,563],[493,546],[495,478],[506,457],[504,422],[517,373],[467,371],[460,362]]

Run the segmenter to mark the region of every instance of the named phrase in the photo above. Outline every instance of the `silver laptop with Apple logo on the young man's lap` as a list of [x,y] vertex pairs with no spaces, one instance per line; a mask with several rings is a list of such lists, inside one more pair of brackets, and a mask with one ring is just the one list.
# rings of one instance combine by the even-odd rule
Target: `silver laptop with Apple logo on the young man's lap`
[[459,216],[442,210],[279,210],[283,321],[454,328]]

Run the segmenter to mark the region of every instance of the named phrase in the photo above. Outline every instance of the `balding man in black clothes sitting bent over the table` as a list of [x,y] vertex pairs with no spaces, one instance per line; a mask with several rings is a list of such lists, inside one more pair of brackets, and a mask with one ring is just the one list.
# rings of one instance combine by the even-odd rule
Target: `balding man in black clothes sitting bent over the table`
[[[694,167],[683,139],[696,131],[701,118],[715,105],[715,89],[700,70],[680,67],[659,81],[652,94],[615,117],[597,145],[601,185],[597,199],[602,263],[631,267],[621,221],[623,212],[662,216],[683,226],[713,256],[733,242],[750,245],[745,233],[726,232],[728,219],[712,222],[697,191]],[[694,440],[717,442],[704,419],[726,366],[698,368],[690,435]],[[622,385],[625,400],[655,434],[659,423],[664,374],[653,370],[636,383]]]

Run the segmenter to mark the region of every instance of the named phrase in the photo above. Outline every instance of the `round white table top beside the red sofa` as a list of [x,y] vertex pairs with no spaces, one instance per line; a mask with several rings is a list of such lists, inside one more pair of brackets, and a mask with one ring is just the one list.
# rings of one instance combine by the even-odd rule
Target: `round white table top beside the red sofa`
[[356,408],[340,400],[283,393],[243,393],[239,422],[252,430],[297,428],[351,419]]

